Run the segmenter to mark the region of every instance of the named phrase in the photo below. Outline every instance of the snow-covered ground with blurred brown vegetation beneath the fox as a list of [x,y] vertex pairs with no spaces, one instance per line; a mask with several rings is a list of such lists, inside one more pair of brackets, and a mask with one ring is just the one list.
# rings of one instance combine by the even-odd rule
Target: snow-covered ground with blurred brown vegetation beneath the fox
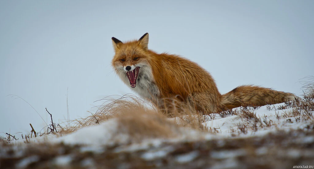
[[[291,165],[314,165],[308,162],[314,159],[312,113],[304,110],[296,113],[289,103],[239,107],[203,116],[201,124],[205,130],[182,127],[176,124],[180,124],[177,118],[164,119],[153,114],[113,117],[63,136],[49,134],[28,140],[30,144],[22,140],[2,145],[2,148],[0,145],[0,168],[28,168],[36,163],[42,166],[99,168],[100,159],[105,157],[103,161],[112,158],[118,162],[116,165],[109,165],[108,162],[106,166],[109,168],[141,168],[141,165],[246,168],[245,164],[254,166],[254,160],[241,159],[254,155],[264,160],[260,161],[261,166],[273,159],[277,159],[278,164],[283,159],[290,159]],[[308,149],[304,149],[306,147]],[[28,153],[30,150],[32,153]],[[53,154],[50,158],[46,157],[49,153],[43,152],[48,150]],[[269,157],[269,154],[275,155]],[[293,161],[295,159],[299,162]],[[16,164],[8,165],[9,160],[15,160]],[[285,162],[285,166],[290,163]],[[283,167],[276,166],[274,162],[269,164]]]

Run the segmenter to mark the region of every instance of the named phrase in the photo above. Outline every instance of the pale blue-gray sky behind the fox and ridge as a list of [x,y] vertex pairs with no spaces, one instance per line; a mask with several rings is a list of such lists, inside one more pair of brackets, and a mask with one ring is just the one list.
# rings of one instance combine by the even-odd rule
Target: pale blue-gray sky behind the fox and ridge
[[299,79],[314,75],[313,8],[312,0],[0,0],[0,132],[45,126],[10,94],[49,123],[45,108],[56,122],[67,117],[67,88],[70,119],[132,93],[112,72],[112,36],[148,32],[150,49],[199,63],[221,93],[255,84],[300,95]]

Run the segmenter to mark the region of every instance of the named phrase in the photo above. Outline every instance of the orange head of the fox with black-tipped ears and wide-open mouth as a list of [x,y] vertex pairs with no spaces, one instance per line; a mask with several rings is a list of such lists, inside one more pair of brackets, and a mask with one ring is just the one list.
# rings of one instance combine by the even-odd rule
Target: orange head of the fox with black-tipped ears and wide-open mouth
[[[112,59],[112,66],[122,80],[129,80],[132,88],[136,87],[138,75],[147,72],[148,64],[148,33],[145,33],[139,40],[122,41],[112,37],[112,44],[115,56]],[[140,70],[141,68],[141,70]]]

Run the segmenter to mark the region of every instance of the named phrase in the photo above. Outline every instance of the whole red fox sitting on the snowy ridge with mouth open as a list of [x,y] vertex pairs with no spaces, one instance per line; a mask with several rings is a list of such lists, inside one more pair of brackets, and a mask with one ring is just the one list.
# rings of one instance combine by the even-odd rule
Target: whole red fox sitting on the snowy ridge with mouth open
[[174,104],[210,114],[241,105],[264,106],[295,99],[292,93],[252,85],[221,95],[205,69],[178,55],[149,50],[148,37],[145,33],[139,40],[127,42],[112,37],[112,66],[125,84],[167,115],[178,108]]

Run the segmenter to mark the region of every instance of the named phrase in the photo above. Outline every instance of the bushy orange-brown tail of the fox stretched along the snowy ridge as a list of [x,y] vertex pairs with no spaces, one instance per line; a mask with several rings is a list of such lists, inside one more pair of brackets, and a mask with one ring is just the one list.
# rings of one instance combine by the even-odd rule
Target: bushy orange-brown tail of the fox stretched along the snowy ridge
[[239,106],[264,106],[295,99],[292,93],[271,90],[259,86],[239,86],[222,95],[221,104],[232,109]]

